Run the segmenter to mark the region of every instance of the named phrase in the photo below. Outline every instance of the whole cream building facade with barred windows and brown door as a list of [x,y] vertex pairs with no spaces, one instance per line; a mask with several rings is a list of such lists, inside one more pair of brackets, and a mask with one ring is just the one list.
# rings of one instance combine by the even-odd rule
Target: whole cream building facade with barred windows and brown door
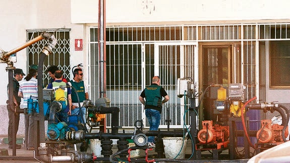
[[[20,4],[24,8],[9,10]],[[163,107],[161,128],[167,127],[168,113],[172,128],[182,128],[189,122],[184,115],[190,103],[177,96],[178,78],[191,78],[197,93],[210,84],[228,87],[230,83],[242,83],[246,101],[256,96],[256,102],[287,105],[290,14],[282,12],[287,10],[287,4],[280,1],[279,8],[275,8],[270,1],[106,1],[105,90],[110,105],[120,107],[120,117],[124,117],[120,126],[132,129],[140,119],[146,124],[138,96],[154,75],[160,76],[170,97]],[[82,63],[90,99],[99,98],[104,81],[99,78],[98,1],[26,0],[2,2],[1,7],[7,24],[1,29],[5,37],[0,40],[5,51],[41,31],[52,32],[58,42],[53,55],[47,57],[44,70],[57,65],[71,79],[71,69]],[[78,41],[82,41],[82,46]],[[37,51],[43,43],[19,51],[15,67],[27,72],[29,65],[37,63]],[[5,70],[6,66],[2,64],[1,68]],[[8,73],[6,76],[7,80],[1,82],[4,87]],[[44,73],[43,79],[47,84],[48,74]],[[5,115],[6,94],[2,99]],[[211,96],[203,101],[210,102],[203,103],[200,119],[212,118]],[[267,117],[259,112],[252,115],[257,115],[253,121]],[[107,115],[108,127],[109,120]]]

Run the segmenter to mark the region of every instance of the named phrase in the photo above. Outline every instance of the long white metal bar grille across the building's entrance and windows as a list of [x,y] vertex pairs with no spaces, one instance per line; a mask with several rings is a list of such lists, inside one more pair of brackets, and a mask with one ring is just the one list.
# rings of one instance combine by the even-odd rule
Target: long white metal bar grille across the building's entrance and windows
[[[233,72],[238,72],[241,77],[233,81],[245,85],[246,100],[259,96],[257,74],[264,71],[259,70],[259,55],[265,53],[259,51],[259,45],[265,41],[289,40],[289,30],[283,30],[288,26],[288,23],[107,26],[107,97],[111,106],[121,108],[120,125],[130,128],[136,120],[146,121],[138,96],[145,86],[150,85],[151,78],[159,74],[161,85],[170,96],[162,112],[170,106],[170,116],[174,120],[171,125],[183,127],[180,122],[185,105],[184,99],[176,96],[176,82],[184,76],[194,77],[197,86],[201,82],[198,63],[202,58],[195,50],[200,42],[235,42],[233,55],[240,55],[241,62],[232,64],[237,69]],[[99,82],[95,77],[98,74],[97,28],[89,27],[89,30],[90,91],[96,93]],[[263,45],[263,49],[267,48]],[[161,119],[160,128],[166,128],[166,118]]]

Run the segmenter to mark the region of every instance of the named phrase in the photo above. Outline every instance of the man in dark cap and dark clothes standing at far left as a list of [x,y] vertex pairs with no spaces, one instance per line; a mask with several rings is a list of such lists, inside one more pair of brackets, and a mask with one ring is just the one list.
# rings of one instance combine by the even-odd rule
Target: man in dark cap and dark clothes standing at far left
[[[23,73],[22,69],[14,69],[13,72],[13,102],[15,103],[15,107],[19,107],[20,106],[20,102],[21,102],[21,97],[18,96],[18,91],[19,91],[19,81],[21,81],[23,79],[23,76],[25,76],[25,74]],[[8,97],[9,97],[9,84],[7,85],[7,93],[8,93]],[[9,117],[9,123],[8,123],[8,145],[9,148],[13,148],[12,145],[12,129],[13,129],[13,116],[14,116],[14,111],[10,110],[9,107],[9,100],[7,100],[7,110],[8,110],[8,117]],[[18,127],[19,127],[19,119],[20,119],[20,115],[19,114],[15,114],[15,133],[17,133],[18,131]],[[16,145],[16,149],[20,149],[21,145],[17,144]]]

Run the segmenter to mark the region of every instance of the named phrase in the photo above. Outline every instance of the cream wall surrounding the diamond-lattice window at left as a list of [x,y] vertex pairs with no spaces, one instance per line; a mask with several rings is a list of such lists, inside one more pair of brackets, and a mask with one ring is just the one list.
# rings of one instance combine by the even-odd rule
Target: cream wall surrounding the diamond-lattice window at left
[[[71,23],[70,0],[13,0],[0,1],[0,48],[9,51],[26,42],[27,29],[71,28],[71,65],[85,63],[85,50],[74,50],[74,38],[84,37],[84,26]],[[86,49],[86,47],[84,47]],[[17,52],[16,68],[27,74],[26,48]],[[7,64],[0,63],[0,123],[3,126],[0,134],[7,134],[8,113],[6,108],[8,72]],[[18,134],[24,133],[24,120],[21,115]]]

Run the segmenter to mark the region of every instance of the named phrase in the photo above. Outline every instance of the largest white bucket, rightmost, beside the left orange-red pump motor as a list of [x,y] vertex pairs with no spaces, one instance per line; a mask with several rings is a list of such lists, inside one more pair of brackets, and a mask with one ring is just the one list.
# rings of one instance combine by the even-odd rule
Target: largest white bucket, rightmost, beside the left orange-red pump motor
[[187,138],[183,139],[182,137],[164,137],[162,140],[166,158],[183,159],[185,157]]

